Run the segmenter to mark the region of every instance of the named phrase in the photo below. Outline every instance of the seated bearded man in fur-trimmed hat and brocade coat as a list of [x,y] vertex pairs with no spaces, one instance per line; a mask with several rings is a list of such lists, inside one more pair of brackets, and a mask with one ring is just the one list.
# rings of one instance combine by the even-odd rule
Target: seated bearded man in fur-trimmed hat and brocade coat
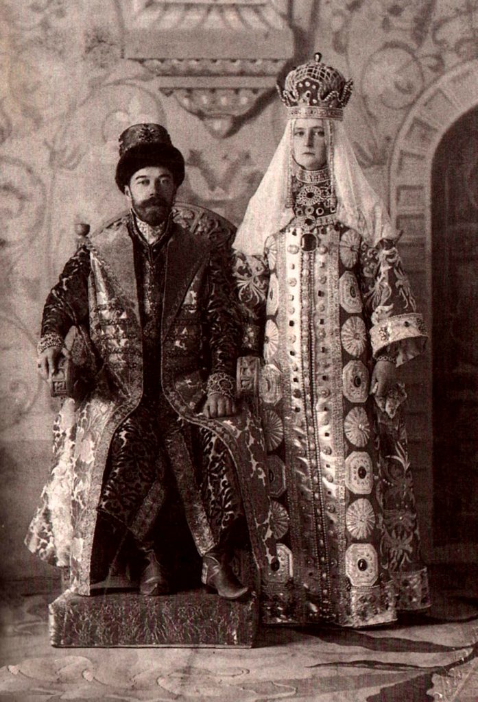
[[26,543],[68,568],[80,595],[128,543],[140,592],[161,595],[177,586],[180,513],[203,582],[235,600],[248,588],[230,568],[234,538],[250,532],[262,570],[275,545],[262,435],[234,401],[227,255],[173,220],[185,163],[166,129],[136,124],[119,143],[116,182],[130,210],[85,238],[44,307],[41,375],[51,380],[66,345],[89,385],[55,421],[51,477]]

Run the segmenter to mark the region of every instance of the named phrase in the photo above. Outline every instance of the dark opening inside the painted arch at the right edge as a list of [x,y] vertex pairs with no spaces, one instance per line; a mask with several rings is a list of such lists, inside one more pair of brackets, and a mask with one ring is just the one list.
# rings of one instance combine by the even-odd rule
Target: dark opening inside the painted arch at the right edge
[[432,166],[434,542],[478,541],[478,108]]

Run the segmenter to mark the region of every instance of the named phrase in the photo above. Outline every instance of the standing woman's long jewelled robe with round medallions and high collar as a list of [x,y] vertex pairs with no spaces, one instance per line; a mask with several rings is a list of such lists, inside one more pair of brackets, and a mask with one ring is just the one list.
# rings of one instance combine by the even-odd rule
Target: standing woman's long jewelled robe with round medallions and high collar
[[[319,187],[330,195],[329,183]],[[293,192],[291,224],[264,256],[237,252],[235,264],[246,345],[265,362],[280,568],[263,580],[263,621],[386,623],[429,599],[397,409],[404,392],[380,410],[370,377],[373,355],[390,346],[402,364],[425,330],[394,241],[372,246],[336,223],[315,186],[295,182]]]

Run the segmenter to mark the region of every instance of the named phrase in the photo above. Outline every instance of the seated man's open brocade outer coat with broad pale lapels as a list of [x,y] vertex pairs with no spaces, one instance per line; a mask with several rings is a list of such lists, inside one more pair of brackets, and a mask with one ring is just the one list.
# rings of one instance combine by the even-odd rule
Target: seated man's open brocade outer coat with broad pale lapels
[[[51,475],[26,538],[29,550],[39,557],[69,567],[70,587],[81,595],[90,592],[96,510],[109,446],[114,432],[138,407],[143,390],[142,332],[129,217],[112,221],[87,243],[89,335],[104,366],[84,401],[75,404],[67,399],[62,404],[54,425]],[[237,471],[253,557],[264,572],[275,558],[275,542],[258,420],[246,408],[222,420],[208,420],[198,412],[206,398],[208,374],[223,370],[221,334],[230,333],[226,317],[231,300],[227,286],[220,284],[223,272],[211,243],[178,223],[173,227],[167,244],[161,321],[162,392],[186,425],[207,428],[229,453]],[[209,329],[204,329],[205,307]],[[202,555],[214,542],[194,473],[194,456],[180,432],[166,449]],[[152,486],[142,505],[144,512],[159,490],[160,486]]]

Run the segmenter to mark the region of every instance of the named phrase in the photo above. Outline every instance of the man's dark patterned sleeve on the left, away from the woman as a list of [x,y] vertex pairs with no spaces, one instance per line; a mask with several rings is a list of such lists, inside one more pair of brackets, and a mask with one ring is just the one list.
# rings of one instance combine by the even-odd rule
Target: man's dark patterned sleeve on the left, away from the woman
[[70,326],[87,322],[89,274],[90,253],[84,245],[69,259],[46,298],[40,340],[44,347],[61,347]]

